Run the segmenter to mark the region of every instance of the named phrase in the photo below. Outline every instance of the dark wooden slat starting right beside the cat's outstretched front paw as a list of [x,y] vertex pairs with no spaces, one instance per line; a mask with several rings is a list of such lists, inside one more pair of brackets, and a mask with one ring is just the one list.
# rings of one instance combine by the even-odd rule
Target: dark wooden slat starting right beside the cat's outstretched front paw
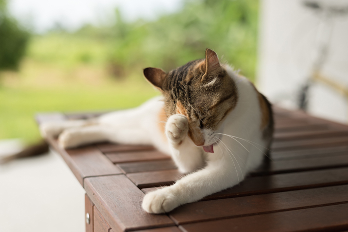
[[176,224],[348,203],[348,185],[201,201],[169,213]]

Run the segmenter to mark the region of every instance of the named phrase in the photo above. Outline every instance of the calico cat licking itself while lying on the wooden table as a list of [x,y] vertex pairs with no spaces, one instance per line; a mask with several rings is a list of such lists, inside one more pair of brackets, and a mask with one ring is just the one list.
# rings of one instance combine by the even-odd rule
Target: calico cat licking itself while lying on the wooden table
[[42,135],[59,135],[64,148],[109,141],[151,144],[171,155],[187,175],[145,195],[142,206],[149,213],[234,186],[260,165],[273,137],[271,105],[248,79],[220,64],[213,50],[168,73],[147,68],[144,75],[162,97],[93,120],[45,123]]

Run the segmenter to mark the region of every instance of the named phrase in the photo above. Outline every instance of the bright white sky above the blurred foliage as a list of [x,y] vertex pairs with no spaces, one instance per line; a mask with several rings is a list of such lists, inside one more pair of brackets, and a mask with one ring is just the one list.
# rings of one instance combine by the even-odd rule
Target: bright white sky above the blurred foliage
[[8,0],[10,13],[37,33],[59,23],[74,31],[86,23],[105,24],[118,7],[127,21],[153,20],[180,9],[182,0]]

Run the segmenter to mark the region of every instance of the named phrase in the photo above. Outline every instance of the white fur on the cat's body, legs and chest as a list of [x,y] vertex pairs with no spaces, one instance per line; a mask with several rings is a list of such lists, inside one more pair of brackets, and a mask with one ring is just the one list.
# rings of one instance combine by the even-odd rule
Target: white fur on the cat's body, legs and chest
[[[225,117],[216,134],[203,130],[205,143],[214,145],[214,153],[206,153],[187,136],[188,122],[183,115],[168,118],[165,127],[167,139],[162,135],[158,114],[163,108],[160,98],[153,98],[142,106],[100,116],[95,125],[85,126],[83,121],[63,124],[43,124],[43,136],[59,136],[64,148],[109,141],[127,144],[152,144],[160,151],[171,155],[180,172],[190,173],[174,185],[148,193],[143,200],[143,209],[149,213],[163,213],[234,186],[262,161],[266,142],[260,131],[261,109],[257,93],[251,83],[237,75],[228,66],[223,66],[235,81],[238,90],[236,107]],[[81,127],[82,126],[82,127]],[[236,136],[232,139],[221,134]],[[259,144],[259,145],[255,145]]]

